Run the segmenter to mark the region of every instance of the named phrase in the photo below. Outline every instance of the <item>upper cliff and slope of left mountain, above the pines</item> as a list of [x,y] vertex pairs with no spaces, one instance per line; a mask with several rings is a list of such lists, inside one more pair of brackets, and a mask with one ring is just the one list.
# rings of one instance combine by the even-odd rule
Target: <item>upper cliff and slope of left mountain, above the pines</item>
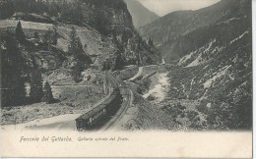
[[102,66],[109,59],[107,63],[111,63],[111,69],[117,62],[122,62],[122,65],[147,65],[160,61],[154,46],[148,45],[136,33],[132,17],[122,0],[12,2],[9,6],[16,14],[13,20],[1,22],[2,31],[9,28],[14,30],[17,25],[15,20],[18,19],[23,20],[29,38],[33,37],[35,31],[42,37],[48,30],[56,28],[59,34],[56,46],[67,52],[71,27],[75,27],[85,52],[93,56],[96,65]]

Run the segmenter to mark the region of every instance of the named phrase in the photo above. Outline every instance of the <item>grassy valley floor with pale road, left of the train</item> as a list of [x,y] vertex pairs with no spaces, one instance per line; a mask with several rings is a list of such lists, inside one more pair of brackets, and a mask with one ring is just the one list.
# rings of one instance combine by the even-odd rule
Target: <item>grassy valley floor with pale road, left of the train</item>
[[[103,94],[102,88],[96,85],[53,85],[52,91],[54,97],[60,100],[59,102],[2,108],[2,129],[33,127],[57,129],[57,127],[61,127],[57,124],[63,123],[64,126],[64,123],[74,122],[79,115],[92,109],[96,101],[99,102],[106,96]],[[69,126],[71,126],[69,129],[72,129],[73,124]]]

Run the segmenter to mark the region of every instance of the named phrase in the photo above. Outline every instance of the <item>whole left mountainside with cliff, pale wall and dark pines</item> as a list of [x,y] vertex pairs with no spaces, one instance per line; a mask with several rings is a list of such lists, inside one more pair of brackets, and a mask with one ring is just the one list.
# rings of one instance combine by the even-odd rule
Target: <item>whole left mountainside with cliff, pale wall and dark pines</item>
[[[0,5],[5,13],[0,21],[1,63],[6,66],[1,75],[3,106],[24,104],[26,93],[18,90],[36,76],[38,82],[43,77],[72,84],[86,82],[84,72],[89,69],[116,71],[160,62],[151,40],[144,40],[133,27],[122,0],[8,0]],[[12,77],[21,83],[9,80]],[[13,103],[16,94],[24,102]]]

